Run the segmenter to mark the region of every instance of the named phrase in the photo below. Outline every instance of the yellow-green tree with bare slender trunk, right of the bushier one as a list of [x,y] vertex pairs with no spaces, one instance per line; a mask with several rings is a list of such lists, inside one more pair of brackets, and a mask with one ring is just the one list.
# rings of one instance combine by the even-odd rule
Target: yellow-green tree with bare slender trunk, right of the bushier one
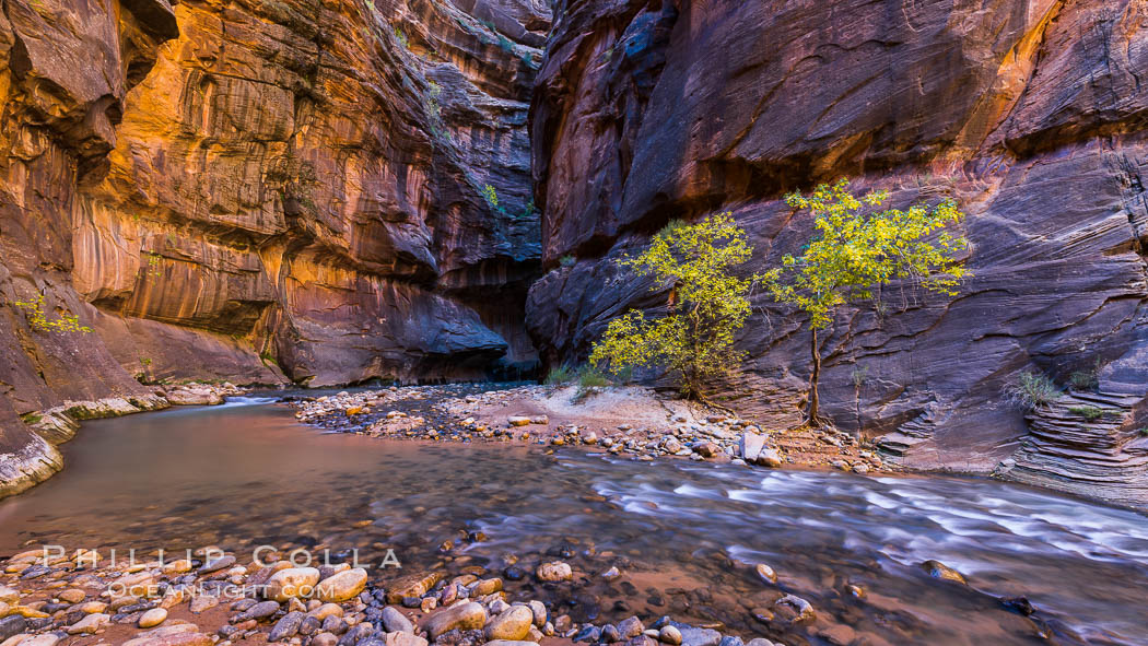
[[889,192],[874,190],[859,200],[847,179],[833,186],[822,184],[808,197],[800,193],[785,196],[793,209],[813,213],[815,234],[804,254],[786,255],[781,267],[762,278],[774,298],[809,316],[813,369],[807,421],[815,426],[823,422],[817,412],[817,332],[832,324],[837,308],[872,299],[875,287],[894,280],[952,296],[961,280],[971,275],[956,259],[968,241],[941,231],[964,217],[955,201],[945,200],[931,208],[916,204],[906,211],[879,210],[887,199]]

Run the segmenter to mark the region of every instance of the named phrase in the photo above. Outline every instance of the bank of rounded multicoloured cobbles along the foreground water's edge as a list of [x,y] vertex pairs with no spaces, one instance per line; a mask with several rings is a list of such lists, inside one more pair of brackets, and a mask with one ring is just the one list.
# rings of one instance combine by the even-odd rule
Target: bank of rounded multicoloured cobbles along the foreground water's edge
[[[537,599],[511,601],[505,579],[481,567],[464,568],[470,571],[450,577],[429,571],[371,582],[366,568],[351,563],[302,565],[301,552],[264,550],[248,561],[214,546],[169,560],[139,562],[121,555],[115,562],[108,557],[90,550],[39,548],[5,561],[0,644],[744,644],[739,637],[668,616],[649,626],[636,616],[616,624],[579,624],[569,615],[554,615]],[[759,565],[758,571],[776,582],[768,566]],[[529,573],[510,566],[506,576],[511,581],[529,577],[549,587],[575,585],[575,571],[564,561],[543,562]],[[616,577],[616,568],[604,576]],[[807,601],[793,596],[779,598],[775,608],[794,623],[815,614]],[[783,645],[755,638],[746,646]]]

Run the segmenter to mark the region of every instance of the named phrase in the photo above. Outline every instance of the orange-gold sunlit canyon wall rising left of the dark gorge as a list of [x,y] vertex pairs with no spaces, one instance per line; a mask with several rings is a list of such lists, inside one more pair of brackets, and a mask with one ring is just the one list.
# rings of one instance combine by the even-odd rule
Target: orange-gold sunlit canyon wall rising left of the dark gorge
[[529,369],[549,26],[542,0],[6,0],[0,481],[59,468],[37,411],[150,407],[137,376]]

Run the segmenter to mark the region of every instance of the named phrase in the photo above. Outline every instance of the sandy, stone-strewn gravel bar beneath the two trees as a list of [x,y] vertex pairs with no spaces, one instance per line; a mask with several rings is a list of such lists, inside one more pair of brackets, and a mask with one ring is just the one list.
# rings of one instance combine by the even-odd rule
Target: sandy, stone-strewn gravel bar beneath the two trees
[[832,429],[768,429],[637,387],[418,386],[290,398],[304,422],[341,433],[432,442],[587,446],[639,461],[676,457],[739,465],[895,470],[875,447]]

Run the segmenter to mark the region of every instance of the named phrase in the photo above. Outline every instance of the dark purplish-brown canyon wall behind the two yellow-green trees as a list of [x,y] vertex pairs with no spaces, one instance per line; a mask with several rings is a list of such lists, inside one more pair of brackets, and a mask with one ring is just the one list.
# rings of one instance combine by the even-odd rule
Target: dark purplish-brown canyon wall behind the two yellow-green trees
[[[551,364],[665,291],[619,272],[672,218],[732,211],[758,271],[812,231],[781,200],[840,176],[897,205],[956,197],[960,296],[893,286],[824,335],[822,405],[915,466],[1148,503],[1148,15],[1111,2],[573,2],[532,108],[544,204],[528,327]],[[809,336],[762,294],[735,404],[798,423]],[[1103,441],[1030,431],[1004,390],[1100,361]],[[1075,420],[1073,423],[1081,420]],[[1100,465],[1100,466],[1097,466]],[[1109,485],[1112,487],[1109,487]]]

